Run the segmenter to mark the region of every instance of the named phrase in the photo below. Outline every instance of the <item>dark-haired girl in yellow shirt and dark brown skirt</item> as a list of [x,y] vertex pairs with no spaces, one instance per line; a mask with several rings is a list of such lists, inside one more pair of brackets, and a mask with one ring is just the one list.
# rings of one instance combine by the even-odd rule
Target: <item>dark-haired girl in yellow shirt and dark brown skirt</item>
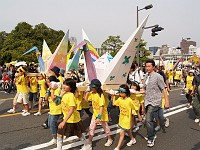
[[62,150],[63,135],[66,137],[78,136],[86,146],[86,139],[82,134],[84,130],[83,122],[79,112],[76,110],[76,82],[73,79],[66,79],[63,82],[61,97],[62,113],[64,114],[62,122],[58,126],[57,149]]

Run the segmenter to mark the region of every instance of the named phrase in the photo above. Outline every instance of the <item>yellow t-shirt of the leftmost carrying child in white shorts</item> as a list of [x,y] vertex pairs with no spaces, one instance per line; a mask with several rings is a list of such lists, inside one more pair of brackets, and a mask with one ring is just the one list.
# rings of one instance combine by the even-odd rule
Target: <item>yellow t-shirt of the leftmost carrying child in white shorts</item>
[[21,93],[28,93],[28,85],[27,85],[27,78],[24,75],[20,76],[17,80],[18,82],[18,91]]

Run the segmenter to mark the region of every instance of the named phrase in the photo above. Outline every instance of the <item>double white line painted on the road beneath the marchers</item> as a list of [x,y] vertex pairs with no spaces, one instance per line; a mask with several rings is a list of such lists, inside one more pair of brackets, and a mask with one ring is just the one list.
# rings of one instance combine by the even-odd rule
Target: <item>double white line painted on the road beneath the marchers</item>
[[[176,107],[172,107],[170,108],[168,111],[171,111],[171,112],[168,112],[164,114],[165,117],[168,117],[168,116],[171,116],[171,115],[174,115],[174,114],[177,114],[177,113],[180,113],[182,111],[185,111],[187,109],[190,109],[190,108],[187,108],[186,107],[187,105],[186,104],[181,104],[181,105],[178,105]],[[183,107],[183,108],[182,108]],[[180,109],[179,109],[180,108]],[[177,109],[177,110],[176,110]],[[172,111],[174,110],[174,111]],[[117,127],[117,124],[115,125],[111,125],[109,126],[110,129],[113,129],[113,128],[116,128]],[[99,132],[102,132],[103,131],[103,128],[101,129],[97,129],[95,130],[95,133],[99,133]],[[116,129],[116,130],[113,130],[111,131],[111,135],[113,134],[117,134],[120,132],[120,129]],[[93,138],[93,141],[96,141],[96,140],[99,140],[99,139],[102,139],[102,138],[105,138],[106,137],[106,134],[100,134],[100,135],[97,135],[97,136],[94,136]],[[72,141],[72,140],[76,140],[78,139],[76,136],[72,136],[72,137],[69,137],[67,138],[66,140],[63,140],[63,142],[67,142],[67,141]],[[52,145],[52,144],[51,144]],[[48,146],[51,146],[49,144],[49,142],[47,143],[43,143],[43,144],[39,144],[39,145],[35,145],[35,146],[31,146],[31,147],[27,147],[27,148],[24,148],[24,149],[21,149],[21,150],[38,150],[38,149],[42,149],[42,148],[45,148],[45,147],[48,147]],[[73,148],[73,147],[77,147],[77,146],[81,146],[83,145],[83,142],[82,141],[77,141],[77,142],[74,142],[74,143],[70,143],[70,144],[67,144],[67,145],[63,145],[63,149],[70,149],[70,148]],[[53,148],[51,150],[56,150],[56,148]]]

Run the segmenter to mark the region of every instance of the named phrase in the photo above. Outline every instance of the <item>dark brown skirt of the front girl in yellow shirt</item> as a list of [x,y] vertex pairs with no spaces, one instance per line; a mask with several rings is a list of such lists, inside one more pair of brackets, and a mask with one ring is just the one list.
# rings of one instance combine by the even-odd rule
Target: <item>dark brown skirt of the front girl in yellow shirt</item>
[[65,123],[62,129],[58,129],[58,134],[65,135],[66,137],[78,136],[82,137],[82,133],[85,132],[83,122],[80,120],[77,123]]

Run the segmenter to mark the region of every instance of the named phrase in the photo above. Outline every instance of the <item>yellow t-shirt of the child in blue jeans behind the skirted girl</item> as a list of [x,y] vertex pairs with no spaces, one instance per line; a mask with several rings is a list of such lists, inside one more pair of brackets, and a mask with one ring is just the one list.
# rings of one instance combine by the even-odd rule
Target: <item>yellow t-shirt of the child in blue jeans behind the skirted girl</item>
[[[52,93],[53,90],[50,90],[50,92]],[[54,90],[54,95],[58,96],[60,95],[61,89],[57,88],[56,90]],[[62,113],[61,111],[61,104],[57,105],[51,98],[51,95],[49,96],[49,110],[50,110],[50,115],[59,115]]]

